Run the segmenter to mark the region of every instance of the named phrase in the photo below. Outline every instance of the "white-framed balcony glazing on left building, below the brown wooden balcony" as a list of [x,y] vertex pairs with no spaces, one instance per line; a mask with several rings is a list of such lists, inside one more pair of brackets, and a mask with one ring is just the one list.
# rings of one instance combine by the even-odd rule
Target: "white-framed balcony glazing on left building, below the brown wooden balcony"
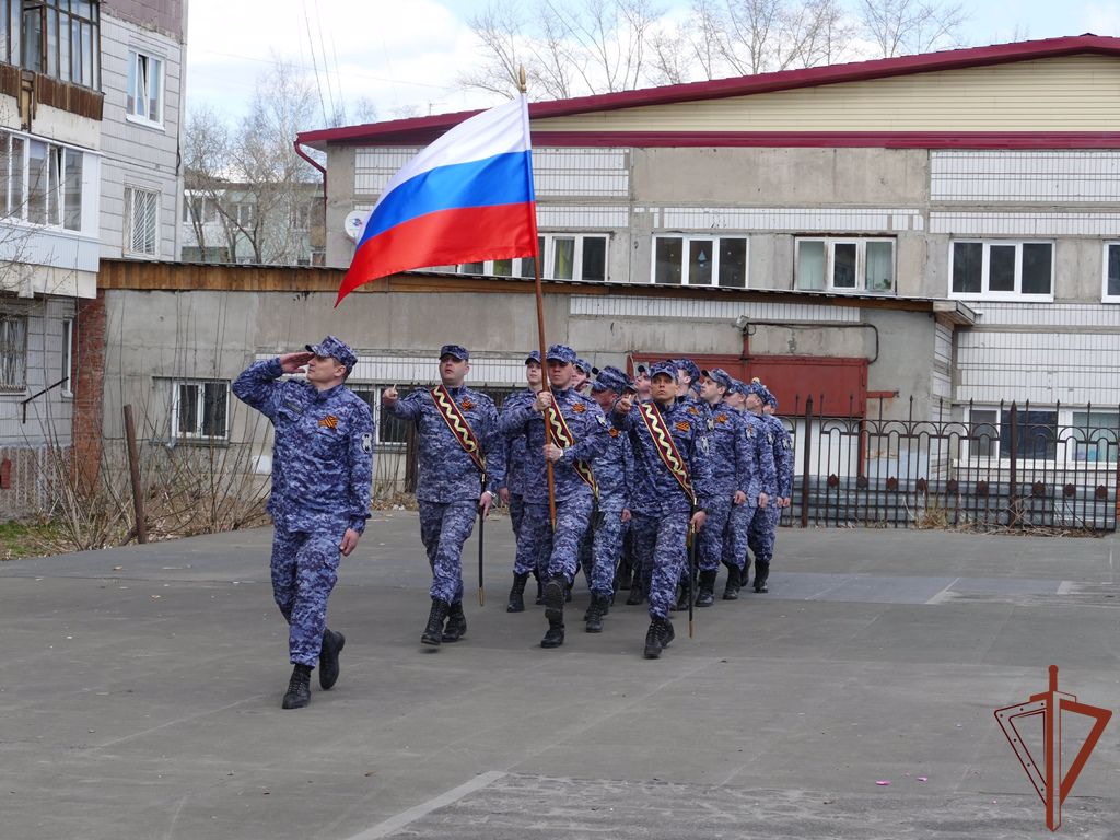
[[0,131],[0,214],[82,230],[83,153]]

